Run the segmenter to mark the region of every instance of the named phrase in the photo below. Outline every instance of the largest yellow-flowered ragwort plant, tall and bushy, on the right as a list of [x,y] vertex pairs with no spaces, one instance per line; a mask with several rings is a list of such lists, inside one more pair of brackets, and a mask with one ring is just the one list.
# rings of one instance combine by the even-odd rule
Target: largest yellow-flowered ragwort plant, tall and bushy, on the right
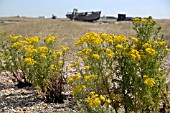
[[71,66],[79,72],[68,79],[72,95],[88,112],[157,112],[165,102],[169,49],[151,17],[133,19],[136,37],[87,33]]

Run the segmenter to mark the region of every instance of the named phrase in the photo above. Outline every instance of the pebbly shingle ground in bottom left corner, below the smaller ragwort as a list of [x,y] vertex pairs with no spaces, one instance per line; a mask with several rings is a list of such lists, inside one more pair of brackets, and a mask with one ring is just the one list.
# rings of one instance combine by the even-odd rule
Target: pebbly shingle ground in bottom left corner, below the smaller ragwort
[[11,78],[0,75],[0,113],[53,113],[74,112],[69,108],[69,101],[64,104],[44,103],[37,98],[32,87],[17,88]]

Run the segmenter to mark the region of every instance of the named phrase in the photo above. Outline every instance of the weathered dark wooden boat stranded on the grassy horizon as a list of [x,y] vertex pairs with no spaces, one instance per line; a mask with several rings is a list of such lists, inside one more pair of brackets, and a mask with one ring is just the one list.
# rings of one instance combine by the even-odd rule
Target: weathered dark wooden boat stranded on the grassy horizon
[[71,20],[93,22],[93,21],[100,19],[100,14],[101,14],[101,11],[78,13],[77,9],[73,9],[73,12],[67,13],[66,17]]

